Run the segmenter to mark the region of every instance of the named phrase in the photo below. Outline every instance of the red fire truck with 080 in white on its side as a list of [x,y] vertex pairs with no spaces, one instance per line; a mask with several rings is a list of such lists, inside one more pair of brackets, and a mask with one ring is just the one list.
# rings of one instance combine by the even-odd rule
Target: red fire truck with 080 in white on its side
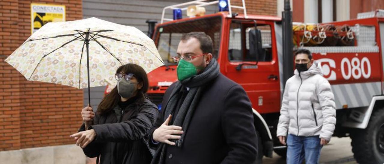
[[[197,14],[203,10],[200,7],[212,4],[228,11]],[[166,64],[148,74],[151,100],[161,108],[164,92],[177,80],[177,64],[171,57],[176,55],[182,34],[204,31],[212,38],[221,73],[242,85],[252,102],[261,138],[259,152],[267,157],[272,151],[285,156],[286,147],[276,137],[281,97],[286,79],[293,75],[293,52],[306,48],[321,62],[332,86],[337,109],[334,136],[351,137],[357,162],[383,163],[384,10],[360,13],[354,20],[292,26],[290,15],[247,15],[244,1],[242,4],[196,0],[164,8],[161,23],[152,24],[154,31],[149,26],[149,36]],[[242,14],[233,13],[233,8],[241,9]],[[168,10],[186,10],[192,16],[167,19]]]

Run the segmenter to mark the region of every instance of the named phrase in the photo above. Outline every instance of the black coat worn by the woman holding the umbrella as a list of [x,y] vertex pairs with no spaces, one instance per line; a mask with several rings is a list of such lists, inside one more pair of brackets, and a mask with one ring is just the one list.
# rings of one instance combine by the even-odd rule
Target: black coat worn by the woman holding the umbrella
[[[158,109],[149,100],[128,105],[124,113],[117,105],[109,113],[93,118],[96,138],[83,149],[88,157],[100,156],[101,164],[146,164],[152,156],[142,138],[156,121]],[[79,131],[84,131],[84,124]]]

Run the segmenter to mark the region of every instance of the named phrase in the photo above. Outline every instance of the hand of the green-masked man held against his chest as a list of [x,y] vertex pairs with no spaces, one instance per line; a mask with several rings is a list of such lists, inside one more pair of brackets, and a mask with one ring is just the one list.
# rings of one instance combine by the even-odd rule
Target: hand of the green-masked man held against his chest
[[170,145],[175,145],[174,142],[169,141],[169,139],[180,139],[180,135],[174,134],[183,134],[182,128],[180,126],[170,125],[168,126],[169,121],[172,119],[172,115],[169,115],[167,120],[153,131],[153,140],[156,142],[162,142]]

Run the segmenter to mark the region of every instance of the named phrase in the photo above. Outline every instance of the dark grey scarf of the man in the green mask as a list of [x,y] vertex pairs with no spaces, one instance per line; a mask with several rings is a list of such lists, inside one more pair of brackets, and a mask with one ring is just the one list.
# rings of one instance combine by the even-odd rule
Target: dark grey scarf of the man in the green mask
[[[219,74],[220,68],[217,64],[216,59],[213,58],[201,74],[194,75],[188,79],[185,79],[181,82],[177,82],[175,84],[176,86],[170,94],[170,98],[166,107],[162,109],[165,110],[163,121],[165,121],[168,116],[175,111],[177,102],[181,97],[180,89],[182,89],[182,86],[190,88],[187,96],[185,97],[184,101],[180,106],[179,112],[177,112],[177,115],[175,116],[173,121],[173,125],[181,126],[184,131],[184,133],[181,135],[181,138],[175,140],[175,146],[180,148],[183,144],[185,135],[187,134],[190,119],[192,118],[196,105],[199,103],[199,99],[201,97],[205,85],[207,85],[210,81],[216,79]],[[154,154],[151,164],[162,164],[164,162],[164,153],[166,148],[165,144],[166,143],[160,143],[156,153]]]

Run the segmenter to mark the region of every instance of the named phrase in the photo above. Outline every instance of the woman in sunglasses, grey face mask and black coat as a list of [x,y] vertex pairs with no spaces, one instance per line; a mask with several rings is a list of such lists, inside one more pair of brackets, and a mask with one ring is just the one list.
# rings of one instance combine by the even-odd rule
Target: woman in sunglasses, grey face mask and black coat
[[96,113],[83,108],[84,123],[71,137],[86,156],[98,157],[101,164],[150,163],[152,156],[142,138],[156,121],[158,109],[145,96],[147,74],[141,66],[125,64],[117,69],[116,80]]

